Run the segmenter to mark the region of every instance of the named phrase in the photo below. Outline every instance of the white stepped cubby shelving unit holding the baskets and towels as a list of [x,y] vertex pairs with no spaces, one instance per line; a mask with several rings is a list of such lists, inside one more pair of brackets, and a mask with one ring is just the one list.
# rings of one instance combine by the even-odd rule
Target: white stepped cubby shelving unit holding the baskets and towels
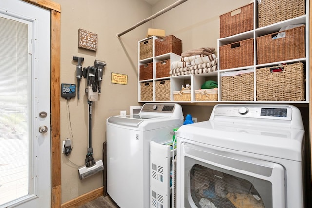
[[[238,67],[238,68],[231,68],[231,69],[223,69],[220,70],[220,64],[218,63],[218,70],[216,72],[210,72],[206,74],[199,74],[199,75],[184,75],[184,76],[171,76],[171,77],[164,77],[160,79],[156,79],[156,62],[158,61],[163,61],[167,59],[171,59],[171,61],[178,61],[180,60],[180,56],[173,54],[173,53],[168,53],[164,54],[161,56],[154,57],[154,45],[153,45],[153,57],[147,58],[144,60],[139,60],[138,61],[138,68],[142,64],[147,64],[153,62],[153,78],[150,80],[139,80],[138,81],[138,102],[156,102],[155,100],[155,82],[157,80],[170,80],[170,101],[166,102],[179,102],[179,103],[215,103],[215,102],[247,102],[247,103],[254,103],[254,102],[262,102],[262,103],[309,103],[309,1],[306,1],[306,14],[293,18],[293,19],[288,19],[285,21],[281,21],[278,23],[274,23],[272,25],[268,25],[265,27],[257,28],[258,25],[258,17],[257,17],[257,9],[258,9],[258,1],[254,0],[254,28],[251,31],[243,32],[240,34],[236,34],[233,36],[225,37],[225,38],[220,38],[217,40],[217,54],[218,54],[218,61],[220,60],[219,58],[219,47],[231,43],[235,43],[238,41],[246,40],[253,38],[254,40],[254,64],[251,66],[245,66],[245,67]],[[273,63],[266,63],[266,64],[257,64],[257,44],[256,44],[256,38],[260,36],[264,36],[267,34],[275,33],[280,30],[281,27],[287,26],[287,25],[292,25],[292,24],[305,24],[305,58],[299,58],[299,59],[294,59],[294,60],[285,60],[285,61],[278,61],[278,62],[273,62]],[[153,38],[154,40],[157,39],[157,37],[153,36],[150,37]],[[139,46],[138,49],[140,51],[140,42],[145,41],[149,38],[143,39],[139,41]],[[282,53],[282,52],[281,52]],[[257,101],[257,95],[256,95],[256,70],[259,68],[264,68],[264,67],[271,67],[271,66],[276,66],[281,63],[286,63],[286,64],[292,64],[296,62],[303,62],[304,63],[304,69],[305,69],[305,100],[304,101]],[[221,75],[220,73],[222,72],[227,72],[227,71],[238,71],[238,70],[244,70],[244,69],[254,69],[254,101],[228,101],[228,100],[221,100]],[[198,90],[201,85],[207,81],[207,80],[214,80],[217,81],[219,84],[218,87],[218,100],[217,101],[196,101],[195,100],[195,90]],[[141,83],[142,82],[153,82],[153,100],[151,101],[142,101],[141,100]],[[191,101],[174,101],[173,97],[173,92],[174,91],[180,91],[181,86],[185,84],[191,84]]]

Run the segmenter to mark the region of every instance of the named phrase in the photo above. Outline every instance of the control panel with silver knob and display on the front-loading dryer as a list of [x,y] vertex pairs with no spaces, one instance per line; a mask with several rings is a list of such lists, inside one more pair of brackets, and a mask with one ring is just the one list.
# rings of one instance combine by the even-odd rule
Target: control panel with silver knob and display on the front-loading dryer
[[291,120],[292,109],[282,105],[219,105],[215,107],[214,116]]

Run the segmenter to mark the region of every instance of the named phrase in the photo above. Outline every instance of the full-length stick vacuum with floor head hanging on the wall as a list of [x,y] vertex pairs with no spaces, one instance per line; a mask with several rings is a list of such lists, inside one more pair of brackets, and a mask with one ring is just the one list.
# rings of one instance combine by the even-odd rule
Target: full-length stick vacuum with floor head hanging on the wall
[[100,86],[103,76],[103,69],[106,66],[105,61],[94,61],[94,66],[89,66],[83,69],[83,76],[87,79],[86,93],[88,94],[88,115],[89,115],[89,146],[85,158],[85,165],[78,169],[80,179],[85,179],[95,173],[104,170],[102,160],[95,161],[93,158],[92,148],[92,102],[98,100],[98,93],[100,93]]

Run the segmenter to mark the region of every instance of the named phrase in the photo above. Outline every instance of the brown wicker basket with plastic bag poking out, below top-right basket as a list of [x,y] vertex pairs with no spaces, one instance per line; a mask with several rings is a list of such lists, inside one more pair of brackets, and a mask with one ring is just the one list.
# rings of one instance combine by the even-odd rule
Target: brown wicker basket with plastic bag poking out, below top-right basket
[[285,30],[284,38],[272,39],[281,32],[257,38],[258,64],[305,57],[305,26]]

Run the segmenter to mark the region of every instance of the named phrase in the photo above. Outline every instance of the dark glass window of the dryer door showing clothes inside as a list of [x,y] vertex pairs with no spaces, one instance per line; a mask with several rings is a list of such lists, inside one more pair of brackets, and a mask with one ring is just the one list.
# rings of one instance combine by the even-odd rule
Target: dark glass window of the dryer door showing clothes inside
[[270,182],[243,174],[234,176],[199,164],[190,171],[190,192],[199,208],[209,205],[217,208],[272,207]]

